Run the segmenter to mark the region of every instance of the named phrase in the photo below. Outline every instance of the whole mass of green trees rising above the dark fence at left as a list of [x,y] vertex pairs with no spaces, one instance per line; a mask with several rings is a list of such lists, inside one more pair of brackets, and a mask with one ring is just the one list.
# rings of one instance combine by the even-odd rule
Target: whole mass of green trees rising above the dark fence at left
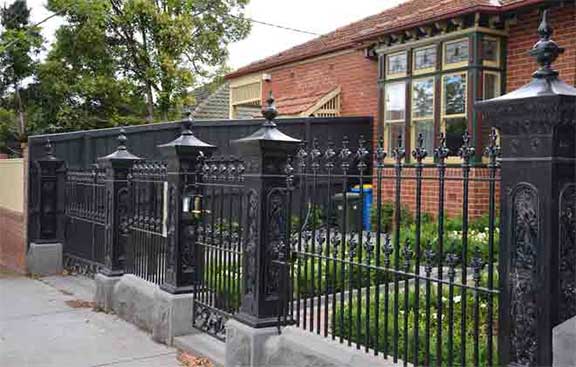
[[[226,73],[227,45],[244,38],[248,0],[49,0],[65,23],[38,64],[40,28],[24,0],[2,12],[3,107],[16,111],[6,132],[106,128],[180,117],[190,90],[212,90]],[[237,17],[231,17],[235,14]],[[23,79],[33,77],[21,86]],[[24,113],[26,111],[26,113]],[[160,112],[160,113],[157,113]],[[25,121],[26,120],[26,121]],[[4,121],[2,122],[4,123]],[[26,125],[26,126],[25,126]]]

